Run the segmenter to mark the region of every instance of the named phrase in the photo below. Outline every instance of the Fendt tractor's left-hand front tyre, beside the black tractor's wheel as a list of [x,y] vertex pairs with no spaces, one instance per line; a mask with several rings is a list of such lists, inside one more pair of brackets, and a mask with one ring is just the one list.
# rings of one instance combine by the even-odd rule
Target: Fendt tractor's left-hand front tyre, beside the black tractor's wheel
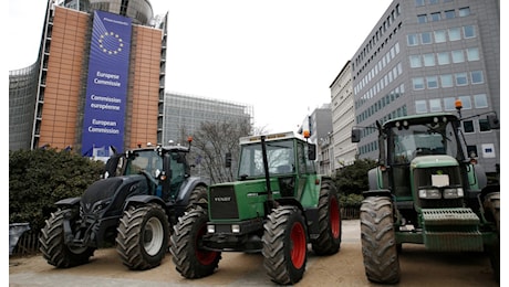
[[207,232],[207,211],[195,209],[178,219],[172,234],[172,259],[181,276],[195,279],[209,276],[218,267],[220,252],[199,247],[201,236]]

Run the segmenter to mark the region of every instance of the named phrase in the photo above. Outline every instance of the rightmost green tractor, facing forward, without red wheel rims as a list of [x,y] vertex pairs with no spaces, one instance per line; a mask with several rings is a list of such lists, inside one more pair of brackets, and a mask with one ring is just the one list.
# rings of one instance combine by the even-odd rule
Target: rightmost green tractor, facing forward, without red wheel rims
[[[486,252],[499,278],[500,187],[487,184],[475,155],[465,157],[460,123],[448,113],[377,123],[378,166],[368,171],[361,205],[368,280],[399,281],[403,243],[433,252]],[[352,141],[359,142],[361,131],[352,130]]]

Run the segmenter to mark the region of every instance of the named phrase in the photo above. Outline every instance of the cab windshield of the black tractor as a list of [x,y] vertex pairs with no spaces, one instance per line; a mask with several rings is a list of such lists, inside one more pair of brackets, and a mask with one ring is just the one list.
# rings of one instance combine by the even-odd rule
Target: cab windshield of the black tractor
[[125,174],[137,174],[142,170],[147,171],[154,178],[157,176],[157,170],[163,170],[163,160],[155,150],[138,150],[128,157]]

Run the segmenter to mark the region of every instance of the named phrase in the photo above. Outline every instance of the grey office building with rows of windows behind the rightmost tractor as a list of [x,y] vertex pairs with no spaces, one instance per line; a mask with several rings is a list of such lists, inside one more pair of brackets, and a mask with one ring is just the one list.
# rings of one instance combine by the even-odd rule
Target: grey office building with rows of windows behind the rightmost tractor
[[[351,60],[355,123],[457,113],[460,99],[466,149],[495,172],[500,131],[486,115],[500,115],[499,63],[500,1],[395,0]],[[376,159],[376,129],[364,129],[357,148]]]

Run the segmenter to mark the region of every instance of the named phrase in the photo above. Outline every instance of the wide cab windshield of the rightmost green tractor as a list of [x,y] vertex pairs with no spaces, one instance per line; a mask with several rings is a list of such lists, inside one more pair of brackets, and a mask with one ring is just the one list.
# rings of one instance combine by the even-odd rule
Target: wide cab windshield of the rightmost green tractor
[[414,158],[428,155],[456,157],[455,129],[449,121],[408,125],[391,129],[392,162],[409,163]]

